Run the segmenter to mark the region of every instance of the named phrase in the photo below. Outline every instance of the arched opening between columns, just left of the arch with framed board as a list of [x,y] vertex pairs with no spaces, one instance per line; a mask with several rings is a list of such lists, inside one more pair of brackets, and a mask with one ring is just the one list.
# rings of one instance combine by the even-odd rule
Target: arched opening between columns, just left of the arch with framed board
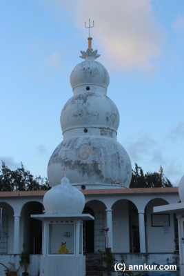
[[139,215],[135,204],[120,199],[112,210],[114,252],[140,253]]

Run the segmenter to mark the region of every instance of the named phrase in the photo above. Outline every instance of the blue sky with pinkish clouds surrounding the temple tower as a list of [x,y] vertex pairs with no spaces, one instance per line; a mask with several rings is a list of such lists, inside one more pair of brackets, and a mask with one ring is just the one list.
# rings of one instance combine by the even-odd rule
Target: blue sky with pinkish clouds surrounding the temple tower
[[62,141],[70,73],[88,48],[108,69],[120,113],[118,141],[132,167],[184,174],[183,0],[7,0],[0,3],[0,158],[47,176]]

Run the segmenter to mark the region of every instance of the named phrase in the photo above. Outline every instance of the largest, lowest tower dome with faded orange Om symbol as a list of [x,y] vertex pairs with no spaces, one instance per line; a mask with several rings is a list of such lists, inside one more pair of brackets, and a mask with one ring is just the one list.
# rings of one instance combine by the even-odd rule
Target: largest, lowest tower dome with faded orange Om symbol
[[107,137],[72,137],[62,141],[48,163],[51,186],[58,183],[65,170],[70,183],[85,186],[129,187],[132,177],[127,152],[116,140]]

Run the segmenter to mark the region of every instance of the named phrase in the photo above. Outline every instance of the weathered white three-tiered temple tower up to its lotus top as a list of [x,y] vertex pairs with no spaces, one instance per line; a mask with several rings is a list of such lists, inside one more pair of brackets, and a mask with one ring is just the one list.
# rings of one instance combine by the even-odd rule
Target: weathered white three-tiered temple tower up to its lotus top
[[116,141],[119,111],[107,96],[108,71],[96,61],[97,50],[81,51],[85,61],[70,75],[74,92],[61,111],[63,141],[48,163],[50,186],[66,176],[78,188],[122,188],[130,185],[132,166]]

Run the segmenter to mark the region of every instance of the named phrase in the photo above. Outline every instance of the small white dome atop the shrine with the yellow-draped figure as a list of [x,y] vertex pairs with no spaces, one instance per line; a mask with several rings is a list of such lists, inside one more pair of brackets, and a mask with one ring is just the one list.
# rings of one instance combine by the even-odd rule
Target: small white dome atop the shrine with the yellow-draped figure
[[81,214],[85,206],[83,193],[70,184],[67,177],[54,186],[43,197],[45,214]]

